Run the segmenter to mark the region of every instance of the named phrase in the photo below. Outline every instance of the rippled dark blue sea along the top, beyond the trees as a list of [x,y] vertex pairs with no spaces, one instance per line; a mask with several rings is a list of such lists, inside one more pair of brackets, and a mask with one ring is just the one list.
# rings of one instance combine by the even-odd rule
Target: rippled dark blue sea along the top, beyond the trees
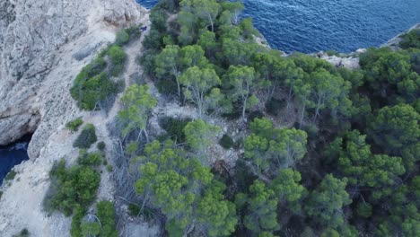
[[[147,8],[157,0],[137,0]],[[378,47],[420,22],[420,0],[243,0],[272,48],[303,53]]]

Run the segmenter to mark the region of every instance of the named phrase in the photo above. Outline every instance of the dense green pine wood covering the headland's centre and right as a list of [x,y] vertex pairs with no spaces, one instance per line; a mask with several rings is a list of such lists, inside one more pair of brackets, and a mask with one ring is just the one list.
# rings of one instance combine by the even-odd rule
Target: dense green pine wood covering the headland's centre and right
[[[153,212],[170,236],[420,236],[419,34],[404,36],[404,49],[368,49],[361,69],[349,70],[258,44],[243,8],[153,8],[140,63],[201,119],[180,128],[185,143],[152,141],[157,101],[145,84],[128,88],[118,120],[137,211]],[[219,131],[211,116],[247,127],[232,176],[204,162]],[[293,122],[276,127],[284,116]]]

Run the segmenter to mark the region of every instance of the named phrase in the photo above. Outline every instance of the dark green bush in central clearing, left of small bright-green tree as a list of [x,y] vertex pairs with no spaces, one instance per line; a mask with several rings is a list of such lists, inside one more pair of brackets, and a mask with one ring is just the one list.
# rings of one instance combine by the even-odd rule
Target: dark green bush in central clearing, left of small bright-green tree
[[185,143],[184,127],[186,127],[190,121],[190,118],[179,119],[165,117],[159,119],[159,126],[168,133],[168,136],[171,137],[172,140],[182,144]]

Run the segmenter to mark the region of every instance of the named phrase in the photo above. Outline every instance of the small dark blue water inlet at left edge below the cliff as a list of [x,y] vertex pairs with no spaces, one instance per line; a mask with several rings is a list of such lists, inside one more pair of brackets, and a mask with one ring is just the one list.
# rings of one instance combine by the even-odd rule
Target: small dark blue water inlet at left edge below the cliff
[[0,185],[14,165],[29,159],[27,153],[28,142],[29,139],[24,138],[13,145],[0,146]]

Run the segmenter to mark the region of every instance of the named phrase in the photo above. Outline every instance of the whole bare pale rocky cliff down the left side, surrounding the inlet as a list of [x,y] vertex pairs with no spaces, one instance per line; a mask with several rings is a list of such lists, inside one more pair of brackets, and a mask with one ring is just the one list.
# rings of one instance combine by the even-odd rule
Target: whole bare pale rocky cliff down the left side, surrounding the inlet
[[[0,145],[34,133],[31,160],[16,166],[18,175],[3,187],[0,236],[22,228],[31,236],[69,235],[70,219],[48,215],[42,207],[52,163],[62,157],[72,162],[77,156],[75,135],[64,125],[82,116],[110,143],[107,117],[79,110],[69,88],[120,27],[147,22],[147,10],[134,0],[0,1]],[[99,198],[112,198],[106,171],[102,180]]]

